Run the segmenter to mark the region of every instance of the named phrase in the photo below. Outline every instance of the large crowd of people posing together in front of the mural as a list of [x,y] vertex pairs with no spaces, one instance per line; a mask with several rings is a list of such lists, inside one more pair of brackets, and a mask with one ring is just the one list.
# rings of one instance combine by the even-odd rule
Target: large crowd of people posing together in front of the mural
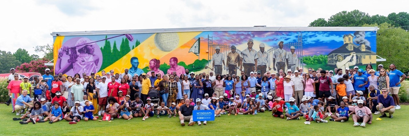
[[[12,112],[20,118],[20,124],[55,123],[66,120],[76,124],[80,120],[103,121],[115,118],[130,120],[140,117],[143,121],[153,116],[179,116],[180,123],[193,121],[193,110],[214,110],[214,116],[256,115],[271,112],[273,117],[328,123],[345,122],[352,116],[353,126],[366,127],[372,123],[372,114],[380,118],[393,118],[400,109],[398,91],[406,75],[390,64],[389,71],[378,65],[366,69],[269,70],[249,72],[246,75],[214,75],[190,72],[150,73],[141,75],[102,71],[65,76],[62,73],[45,74],[34,81],[20,79],[10,70],[9,95]],[[346,73],[344,73],[346,72]],[[31,86],[34,90],[31,90]],[[148,95],[157,90],[158,100]],[[33,95],[34,96],[31,96]],[[34,98],[34,99],[32,99]],[[389,113],[387,115],[386,113]],[[202,125],[199,121],[198,125]],[[204,121],[203,125],[207,125]]]

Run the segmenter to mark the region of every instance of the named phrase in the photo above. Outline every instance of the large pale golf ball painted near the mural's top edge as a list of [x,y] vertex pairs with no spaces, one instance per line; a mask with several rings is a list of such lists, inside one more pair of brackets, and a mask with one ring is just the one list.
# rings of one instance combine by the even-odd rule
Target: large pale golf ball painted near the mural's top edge
[[162,51],[172,51],[179,44],[178,33],[156,33],[155,35],[155,45]]

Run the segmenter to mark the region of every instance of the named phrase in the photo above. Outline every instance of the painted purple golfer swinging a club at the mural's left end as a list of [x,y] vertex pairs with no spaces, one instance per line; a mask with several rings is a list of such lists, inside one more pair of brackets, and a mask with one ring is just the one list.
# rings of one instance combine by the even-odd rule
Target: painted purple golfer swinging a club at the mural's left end
[[[129,41],[133,41],[132,35],[129,34],[117,35],[106,39],[123,35]],[[75,37],[67,40],[58,50],[55,72],[67,75],[74,75],[76,73],[91,75],[91,72],[97,73],[102,64],[102,53],[96,42],[106,39],[92,41],[86,37]]]

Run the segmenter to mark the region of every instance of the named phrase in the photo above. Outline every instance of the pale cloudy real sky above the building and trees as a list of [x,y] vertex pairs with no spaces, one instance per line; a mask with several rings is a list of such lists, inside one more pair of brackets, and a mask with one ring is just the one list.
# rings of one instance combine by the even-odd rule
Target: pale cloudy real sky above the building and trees
[[[396,4],[399,3],[399,4]],[[0,50],[51,44],[52,32],[183,27],[308,26],[340,11],[409,12],[408,1],[378,0],[2,0]]]

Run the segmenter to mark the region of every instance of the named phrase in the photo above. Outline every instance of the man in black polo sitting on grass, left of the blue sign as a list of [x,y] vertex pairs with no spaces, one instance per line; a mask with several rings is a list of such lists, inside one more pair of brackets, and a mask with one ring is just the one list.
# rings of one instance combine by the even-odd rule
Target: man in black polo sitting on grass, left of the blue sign
[[189,126],[195,125],[196,122],[193,122],[193,106],[189,105],[190,100],[186,99],[184,101],[184,105],[180,106],[179,108],[179,119],[180,119],[180,125],[184,126],[184,121],[189,121]]

